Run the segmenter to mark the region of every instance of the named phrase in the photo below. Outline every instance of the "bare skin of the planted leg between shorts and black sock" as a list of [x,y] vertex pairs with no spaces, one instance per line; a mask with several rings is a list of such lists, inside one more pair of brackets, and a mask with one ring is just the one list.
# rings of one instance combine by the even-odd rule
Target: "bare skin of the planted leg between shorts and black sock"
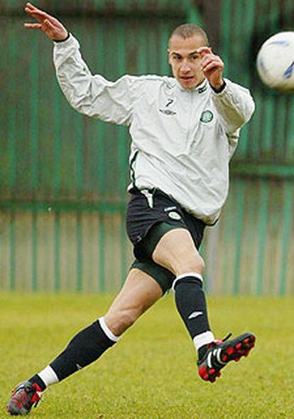
[[104,316],[107,327],[120,336],[162,295],[156,280],[137,268],[131,269],[124,287]]

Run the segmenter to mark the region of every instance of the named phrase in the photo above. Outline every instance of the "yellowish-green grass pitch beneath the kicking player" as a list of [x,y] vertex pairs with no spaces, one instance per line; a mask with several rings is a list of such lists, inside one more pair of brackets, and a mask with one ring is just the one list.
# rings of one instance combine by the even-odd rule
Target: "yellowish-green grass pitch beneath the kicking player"
[[[51,361],[103,314],[109,295],[0,295],[0,417],[11,387]],[[251,330],[256,348],[216,383],[196,375],[195,351],[168,295],[96,364],[44,393],[32,418],[294,418],[294,299],[209,298],[214,332]]]

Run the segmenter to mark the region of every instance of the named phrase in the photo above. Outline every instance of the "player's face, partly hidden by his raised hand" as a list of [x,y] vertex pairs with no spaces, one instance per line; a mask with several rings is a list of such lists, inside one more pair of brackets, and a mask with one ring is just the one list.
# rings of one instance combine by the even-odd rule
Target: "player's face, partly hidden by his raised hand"
[[190,38],[174,35],[170,38],[168,62],[174,77],[184,89],[193,89],[204,80],[200,54],[196,51],[200,46],[206,45],[200,35],[193,35]]

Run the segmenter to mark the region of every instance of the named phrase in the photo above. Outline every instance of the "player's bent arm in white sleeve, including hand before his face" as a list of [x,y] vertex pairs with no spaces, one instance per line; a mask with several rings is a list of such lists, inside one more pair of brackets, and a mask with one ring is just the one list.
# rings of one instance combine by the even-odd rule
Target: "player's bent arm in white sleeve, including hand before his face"
[[254,112],[254,100],[249,90],[224,80],[224,63],[214,55],[209,47],[198,51],[202,58],[202,71],[214,91],[212,100],[219,112],[227,134],[233,134],[251,118]]

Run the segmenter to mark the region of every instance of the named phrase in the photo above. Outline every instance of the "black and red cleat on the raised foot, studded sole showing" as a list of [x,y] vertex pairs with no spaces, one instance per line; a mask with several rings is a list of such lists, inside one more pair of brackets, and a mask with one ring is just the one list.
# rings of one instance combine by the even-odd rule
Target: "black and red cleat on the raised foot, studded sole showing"
[[229,339],[230,336],[231,334],[207,345],[205,355],[197,362],[198,373],[203,380],[214,383],[224,366],[230,361],[239,361],[242,356],[247,356],[254,347],[256,338],[251,332],[240,334],[234,339]]

